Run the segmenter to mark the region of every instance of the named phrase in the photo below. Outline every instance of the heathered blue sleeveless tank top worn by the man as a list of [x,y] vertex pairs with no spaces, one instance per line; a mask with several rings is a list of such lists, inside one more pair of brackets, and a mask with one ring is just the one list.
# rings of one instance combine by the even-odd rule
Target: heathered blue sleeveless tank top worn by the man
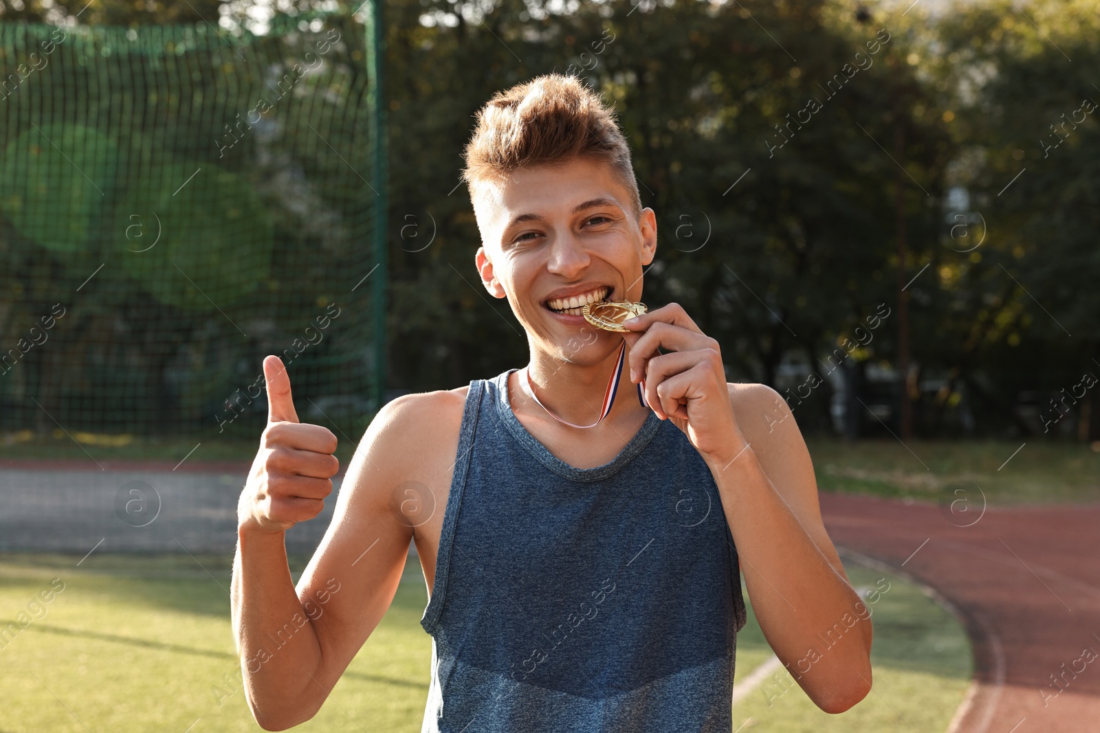
[[737,551],[698,451],[650,412],[574,468],[470,382],[433,592],[421,733],[729,733]]

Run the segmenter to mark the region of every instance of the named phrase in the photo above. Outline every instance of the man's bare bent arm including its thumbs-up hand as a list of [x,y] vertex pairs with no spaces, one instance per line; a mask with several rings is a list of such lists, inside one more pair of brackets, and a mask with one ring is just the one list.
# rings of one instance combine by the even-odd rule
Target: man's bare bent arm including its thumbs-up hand
[[277,357],[265,359],[264,371],[268,425],[238,507],[231,596],[249,706],[262,728],[284,730],[317,713],[397,590],[411,529],[388,498],[410,458],[407,431],[396,424],[409,410],[400,398],[372,421],[295,589],[284,534],[321,511],[338,470],[337,441],[322,426],[298,423]]

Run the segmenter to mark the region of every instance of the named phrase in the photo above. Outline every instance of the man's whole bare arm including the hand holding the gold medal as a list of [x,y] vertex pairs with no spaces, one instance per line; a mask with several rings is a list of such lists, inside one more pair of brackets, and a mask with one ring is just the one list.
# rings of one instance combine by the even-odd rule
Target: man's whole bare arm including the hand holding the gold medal
[[[679,303],[623,326],[630,380],[645,378],[646,402],[684,432],[714,476],[765,637],[789,666],[802,663],[792,674],[817,707],[847,710],[870,691],[871,624],[822,524],[790,408],[766,385],[726,381],[718,342]],[[838,641],[806,655],[834,624],[843,624]]]

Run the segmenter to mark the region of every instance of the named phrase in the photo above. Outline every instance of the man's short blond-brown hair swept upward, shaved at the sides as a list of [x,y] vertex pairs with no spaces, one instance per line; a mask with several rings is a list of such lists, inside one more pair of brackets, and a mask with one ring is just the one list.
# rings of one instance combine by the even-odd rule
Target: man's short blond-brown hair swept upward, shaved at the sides
[[602,160],[629,192],[635,220],[641,218],[630,148],[614,110],[574,76],[544,74],[498,91],[479,110],[464,157],[471,201],[483,184],[503,184],[517,168]]

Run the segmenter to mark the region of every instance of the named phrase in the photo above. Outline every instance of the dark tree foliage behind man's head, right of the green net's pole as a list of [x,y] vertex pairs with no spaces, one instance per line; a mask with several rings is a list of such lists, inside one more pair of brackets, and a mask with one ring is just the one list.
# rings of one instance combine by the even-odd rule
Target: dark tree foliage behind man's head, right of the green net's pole
[[[919,431],[959,431],[965,392],[978,432],[1036,432],[1016,395],[1074,385],[1087,357],[1100,358],[1087,285],[1100,271],[1096,115],[1046,174],[1032,178],[1032,157],[1014,157],[1042,156],[1041,132],[1086,93],[1100,100],[1088,81],[1100,78],[1094,9],[1063,8],[1030,3],[1040,31],[1007,1],[942,18],[920,4],[857,12],[816,0],[581,3],[563,14],[392,7],[391,220],[404,249],[392,253],[395,386],[461,385],[525,360],[518,324],[471,267],[480,235],[452,189],[477,108],[572,68],[616,104],[657,212],[647,301],[683,304],[722,343],[732,378],[778,385],[781,362],[800,353],[814,365],[880,303],[897,314],[912,279],[915,378],[944,385],[914,397]],[[882,29],[889,41],[872,54]],[[845,64],[860,68],[828,87]],[[821,109],[788,127],[811,99]],[[970,191],[961,220],[945,210],[954,186]],[[420,249],[425,238],[398,230],[414,216],[425,232],[429,213],[436,237]],[[851,360],[892,366],[897,333],[893,315]],[[828,424],[829,390],[799,411],[803,430]]]

